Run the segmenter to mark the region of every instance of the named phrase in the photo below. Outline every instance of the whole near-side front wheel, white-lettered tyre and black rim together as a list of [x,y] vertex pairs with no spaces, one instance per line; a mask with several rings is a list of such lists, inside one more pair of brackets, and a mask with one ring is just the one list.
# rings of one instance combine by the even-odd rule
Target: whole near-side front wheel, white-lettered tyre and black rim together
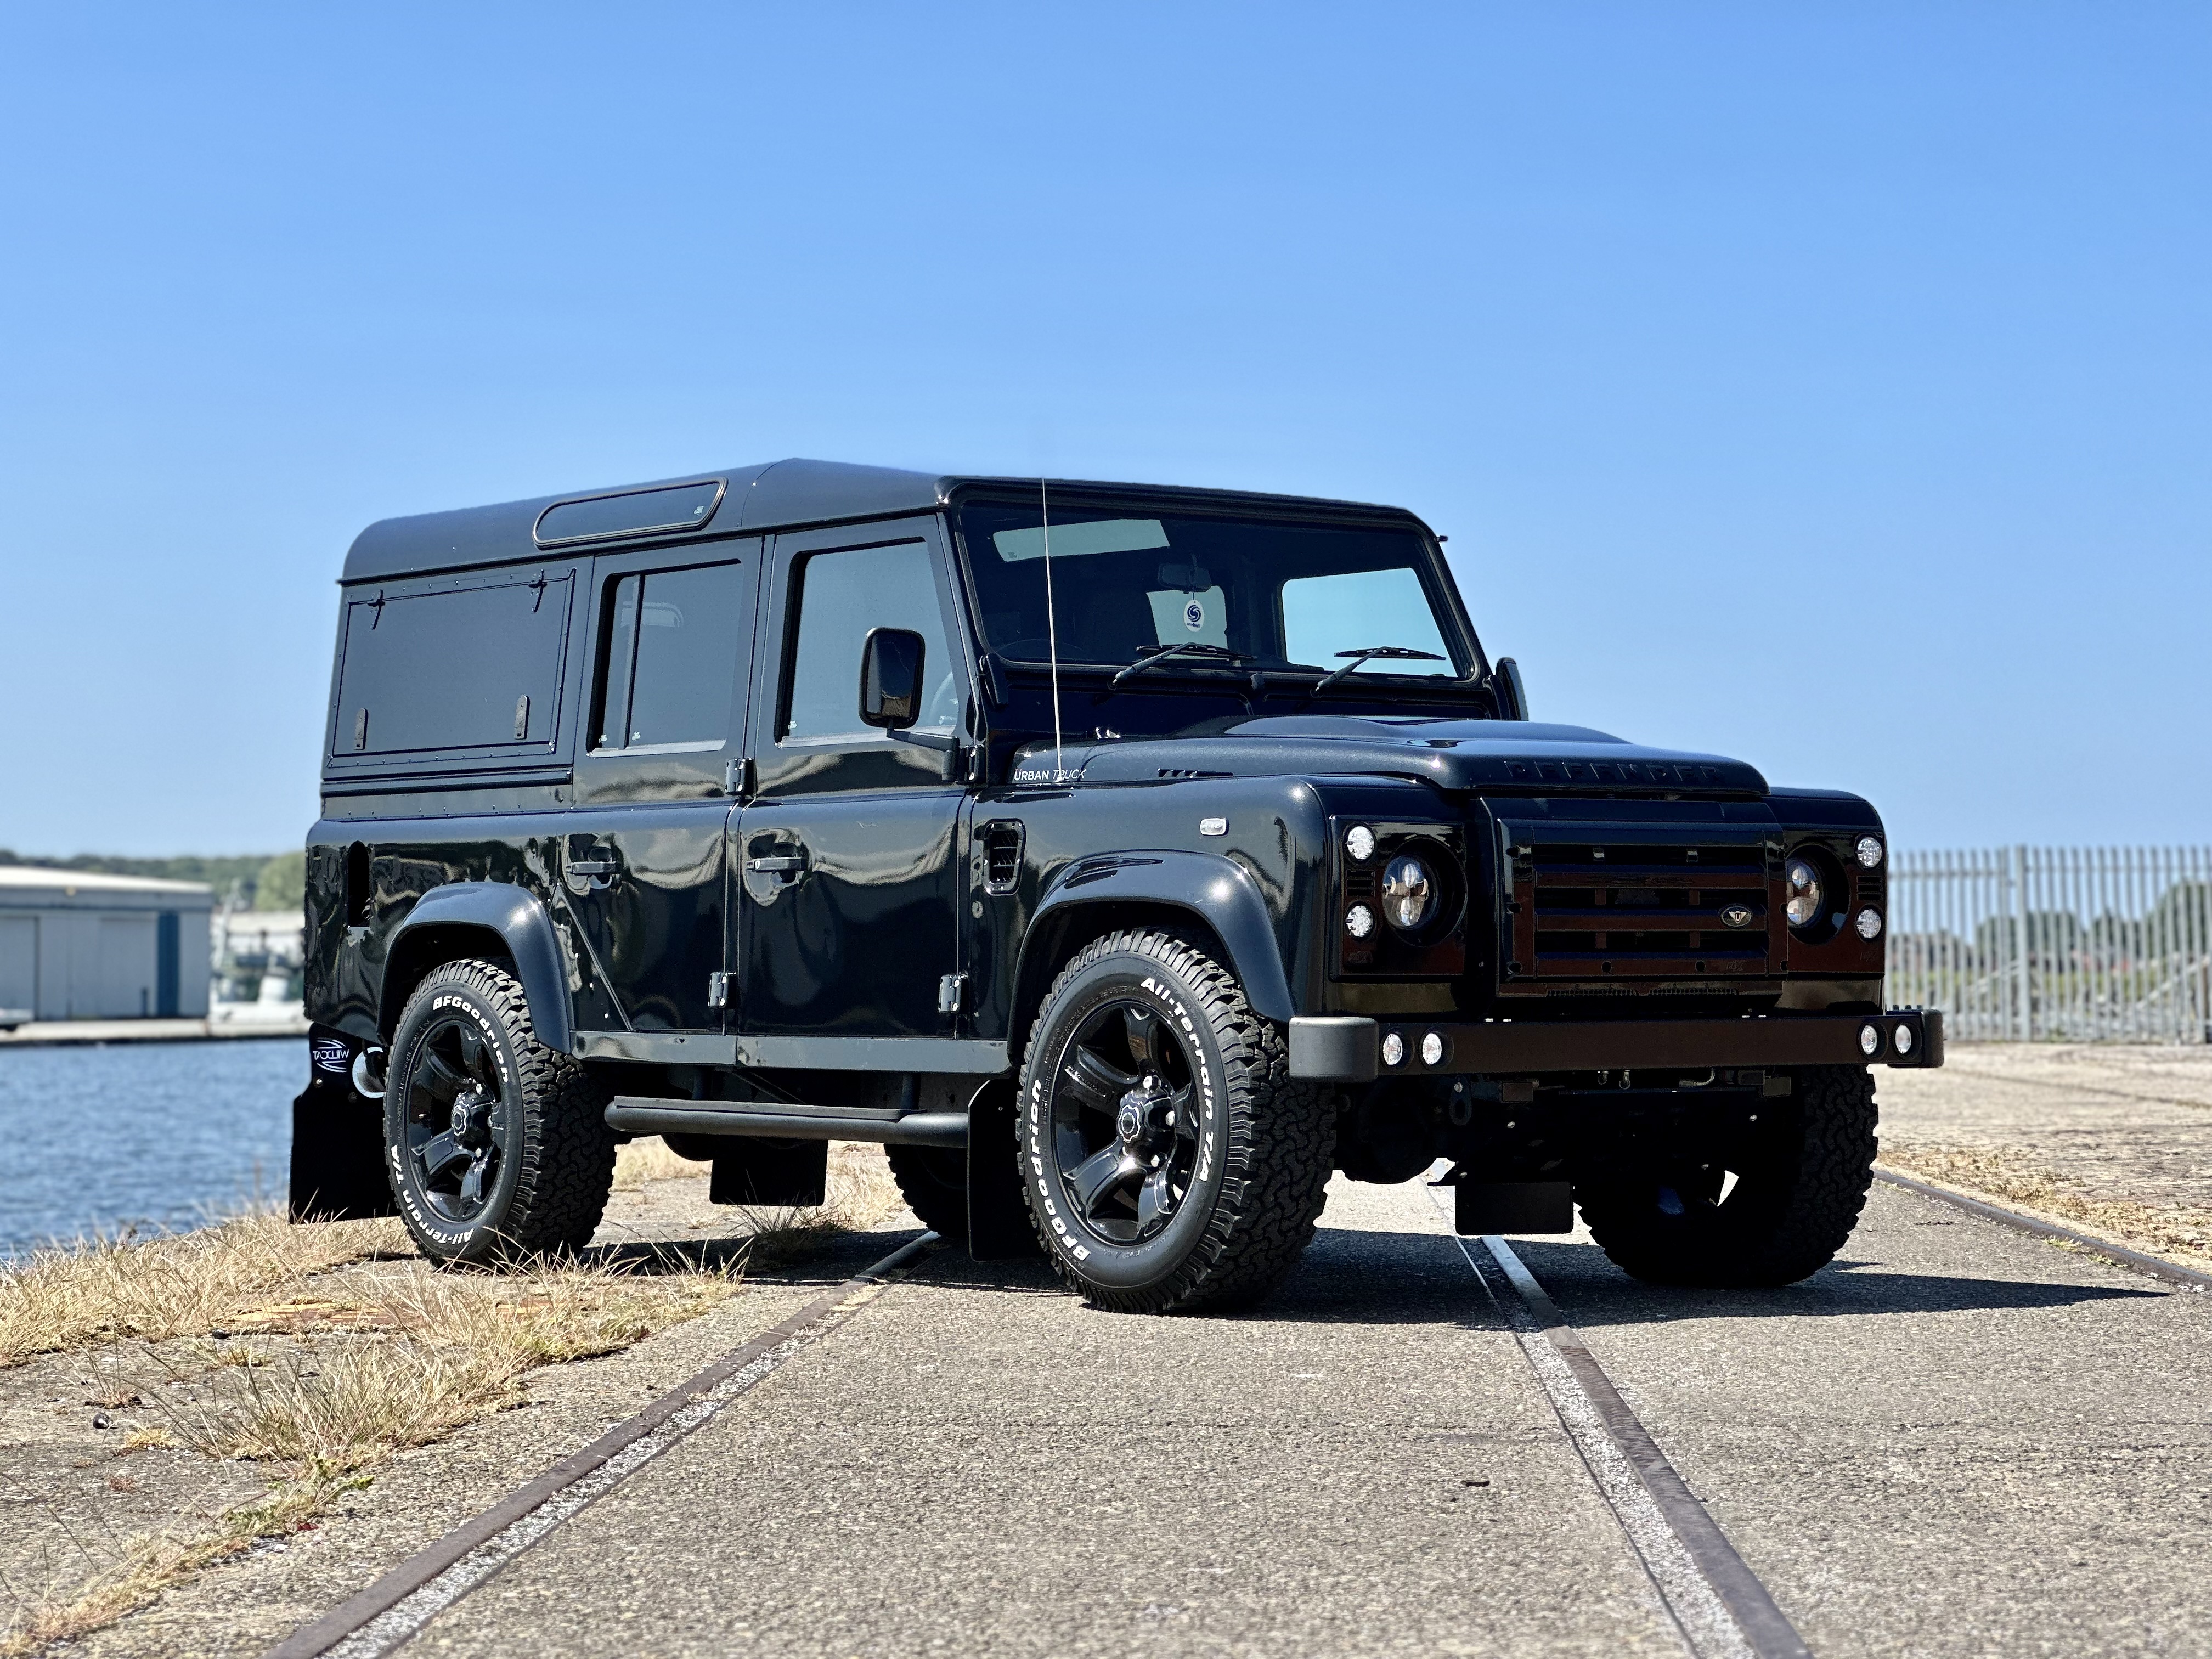
[[1093,940],[1044,995],[1015,1146],[1060,1276],[1130,1314],[1265,1296],[1314,1237],[1334,1113],[1206,951]]

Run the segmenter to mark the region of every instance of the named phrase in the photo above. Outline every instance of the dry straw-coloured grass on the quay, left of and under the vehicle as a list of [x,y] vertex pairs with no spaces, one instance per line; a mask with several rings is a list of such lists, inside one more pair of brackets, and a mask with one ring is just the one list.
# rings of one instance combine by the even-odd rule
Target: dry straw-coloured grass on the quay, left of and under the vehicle
[[[622,1148],[615,1179],[635,1188],[703,1175],[703,1164],[653,1139]],[[91,1343],[168,1340],[168,1383],[131,1385],[164,1427],[133,1429],[124,1449],[254,1460],[270,1489],[212,1522],[131,1540],[69,1595],[20,1606],[0,1628],[0,1657],[97,1630],[259,1540],[312,1526],[396,1453],[518,1402],[526,1371],[628,1347],[734,1294],[748,1263],[803,1254],[898,1208],[883,1148],[838,1144],[827,1203],[737,1212],[750,1239],[728,1267],[635,1245],[599,1267],[515,1274],[352,1265],[414,1252],[398,1223],[292,1228],[274,1214],[40,1252],[0,1276],[0,1365]],[[179,1349],[173,1338],[208,1340]]]

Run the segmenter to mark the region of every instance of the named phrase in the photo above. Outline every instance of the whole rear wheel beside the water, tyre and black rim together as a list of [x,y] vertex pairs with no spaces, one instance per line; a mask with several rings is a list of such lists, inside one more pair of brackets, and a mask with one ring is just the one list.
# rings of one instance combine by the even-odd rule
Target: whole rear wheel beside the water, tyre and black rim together
[[513,973],[431,969],[407,998],[387,1077],[385,1175],[425,1256],[511,1261],[591,1241],[615,1181],[608,1097],[538,1042]]

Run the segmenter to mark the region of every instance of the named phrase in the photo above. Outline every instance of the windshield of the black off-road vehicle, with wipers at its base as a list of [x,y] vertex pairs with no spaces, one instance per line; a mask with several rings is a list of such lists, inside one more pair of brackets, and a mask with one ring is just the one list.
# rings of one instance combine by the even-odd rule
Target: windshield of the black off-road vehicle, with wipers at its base
[[[975,502],[960,511],[984,644],[1044,661],[1044,518]],[[1060,661],[1126,666],[1161,646],[1237,653],[1241,668],[1347,668],[1396,646],[1418,657],[1358,664],[1358,675],[1460,679],[1471,672],[1444,626],[1442,595],[1411,531],[1270,524],[1175,513],[1053,509],[1053,624]],[[1164,666],[1203,666],[1208,653]]]

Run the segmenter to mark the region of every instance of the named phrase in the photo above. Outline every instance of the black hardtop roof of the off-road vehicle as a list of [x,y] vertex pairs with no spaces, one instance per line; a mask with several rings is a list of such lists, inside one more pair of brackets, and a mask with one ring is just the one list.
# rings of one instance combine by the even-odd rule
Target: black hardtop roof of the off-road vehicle
[[[416,513],[411,518],[380,518],[354,538],[352,549],[345,553],[345,575],[341,582],[374,582],[383,577],[431,575],[436,571],[467,571],[482,564],[513,564],[515,560],[542,560],[553,551],[540,549],[531,531],[538,518],[557,502],[619,495],[633,489],[699,484],[717,478],[728,482],[728,493],[708,524],[708,533],[712,535],[836,524],[838,520],[887,518],[891,513],[929,513],[951,500],[951,493],[962,487],[1037,489],[1035,478],[916,473],[898,467],[854,467],[843,460],[772,460],[761,467],[730,467],[686,478],[659,478],[648,484],[573,489],[560,495],[538,495],[526,502],[462,507],[451,513]],[[1179,495],[1192,507],[1323,507],[1411,518],[1411,513],[1396,507],[1338,502],[1318,495],[1263,495],[1234,489],[1186,489],[1179,484],[1106,484],[1073,478],[1053,478],[1046,487],[1053,491],[1064,489],[1071,495]],[[613,546],[626,544],[613,542]],[[602,546],[608,544],[602,542]],[[577,551],[588,553],[591,549],[564,546],[560,555],[575,555]]]

